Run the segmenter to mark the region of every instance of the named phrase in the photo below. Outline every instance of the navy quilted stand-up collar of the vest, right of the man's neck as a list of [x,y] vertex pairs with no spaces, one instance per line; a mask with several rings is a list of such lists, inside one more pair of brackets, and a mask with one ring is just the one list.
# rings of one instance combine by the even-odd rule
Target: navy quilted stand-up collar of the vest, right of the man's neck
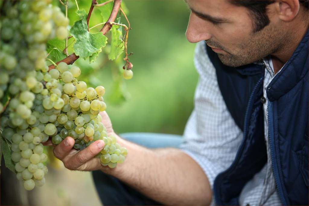
[[289,92],[308,73],[308,31],[291,58],[273,78],[267,88],[269,101],[275,101]]

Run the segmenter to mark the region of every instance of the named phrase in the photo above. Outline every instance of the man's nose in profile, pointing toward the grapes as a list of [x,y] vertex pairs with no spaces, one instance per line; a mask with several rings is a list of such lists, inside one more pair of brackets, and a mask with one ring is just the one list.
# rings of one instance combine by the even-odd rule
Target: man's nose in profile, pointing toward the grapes
[[210,39],[211,34],[208,22],[191,12],[186,37],[191,43]]

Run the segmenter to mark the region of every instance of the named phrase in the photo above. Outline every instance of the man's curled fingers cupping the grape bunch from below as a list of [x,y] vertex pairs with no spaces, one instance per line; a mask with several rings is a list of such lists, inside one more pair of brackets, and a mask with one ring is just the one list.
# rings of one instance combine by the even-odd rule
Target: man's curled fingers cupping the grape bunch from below
[[97,140],[82,151],[72,149],[74,139],[66,137],[60,144],[54,148],[54,155],[61,160],[64,166],[69,170],[101,170],[102,165],[97,155],[104,148],[104,141]]

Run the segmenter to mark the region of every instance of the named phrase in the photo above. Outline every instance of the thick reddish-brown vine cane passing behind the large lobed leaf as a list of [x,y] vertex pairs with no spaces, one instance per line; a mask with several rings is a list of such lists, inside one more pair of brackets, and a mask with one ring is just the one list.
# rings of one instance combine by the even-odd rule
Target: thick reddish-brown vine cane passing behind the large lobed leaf
[[[115,21],[120,5],[121,5],[121,0],[114,0],[114,6],[112,9],[111,15],[109,16],[108,21],[104,24],[103,28],[100,30],[100,32],[102,32],[103,35],[105,35],[112,28],[112,24],[108,22]],[[61,61],[57,62],[56,64],[58,65],[60,62],[65,62],[66,64],[73,64],[78,58],[79,56],[73,53],[67,56],[66,58],[62,59]],[[54,68],[55,68],[55,65],[49,66],[49,70],[54,69]]]

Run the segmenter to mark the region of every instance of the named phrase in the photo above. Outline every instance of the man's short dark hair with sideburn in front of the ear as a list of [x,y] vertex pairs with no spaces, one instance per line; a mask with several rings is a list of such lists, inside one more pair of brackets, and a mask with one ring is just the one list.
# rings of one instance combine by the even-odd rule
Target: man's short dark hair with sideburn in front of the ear
[[[275,1],[248,1],[248,0],[232,0],[230,1],[235,6],[244,6],[249,9],[254,23],[253,32],[262,30],[269,24],[269,18],[266,14],[267,6]],[[299,3],[308,9],[308,0],[299,0]]]

